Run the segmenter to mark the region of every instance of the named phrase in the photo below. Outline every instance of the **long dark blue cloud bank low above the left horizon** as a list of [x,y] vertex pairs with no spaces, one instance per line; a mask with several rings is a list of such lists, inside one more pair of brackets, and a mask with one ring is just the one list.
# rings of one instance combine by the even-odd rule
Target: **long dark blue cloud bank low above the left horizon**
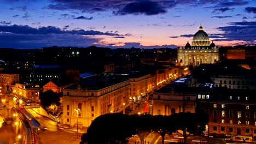
[[88,47],[101,39],[73,34],[9,34],[0,33],[1,47],[40,49],[48,46]]

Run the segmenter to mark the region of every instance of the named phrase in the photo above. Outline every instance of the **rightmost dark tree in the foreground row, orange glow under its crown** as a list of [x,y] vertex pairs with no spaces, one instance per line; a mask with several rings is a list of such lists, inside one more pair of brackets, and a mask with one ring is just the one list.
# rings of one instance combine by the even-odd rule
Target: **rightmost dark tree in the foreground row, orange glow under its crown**
[[196,114],[190,112],[179,112],[171,115],[176,128],[176,132],[183,136],[183,142],[197,129]]

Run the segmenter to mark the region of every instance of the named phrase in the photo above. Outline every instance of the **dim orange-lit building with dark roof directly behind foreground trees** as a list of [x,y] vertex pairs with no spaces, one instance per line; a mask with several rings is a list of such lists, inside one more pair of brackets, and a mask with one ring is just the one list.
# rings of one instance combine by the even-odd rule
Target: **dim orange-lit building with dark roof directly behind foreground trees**
[[185,87],[184,82],[170,83],[170,85],[155,91],[153,100],[153,115],[168,116],[179,112],[195,113],[196,88]]

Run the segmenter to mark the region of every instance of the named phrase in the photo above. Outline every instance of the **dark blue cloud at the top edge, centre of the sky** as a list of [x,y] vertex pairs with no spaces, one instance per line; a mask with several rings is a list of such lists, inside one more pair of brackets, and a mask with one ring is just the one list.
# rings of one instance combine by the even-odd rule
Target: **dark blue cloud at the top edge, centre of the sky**
[[148,0],[133,2],[125,5],[123,9],[113,11],[114,15],[157,15],[165,14],[167,11],[158,2]]

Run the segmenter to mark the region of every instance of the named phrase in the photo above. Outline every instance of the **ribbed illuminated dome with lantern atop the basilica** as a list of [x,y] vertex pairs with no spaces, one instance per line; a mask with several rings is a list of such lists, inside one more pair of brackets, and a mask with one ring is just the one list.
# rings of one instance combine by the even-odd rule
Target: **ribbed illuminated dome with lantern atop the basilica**
[[208,34],[205,31],[203,31],[201,25],[199,27],[199,31],[194,34],[192,46],[210,46]]

